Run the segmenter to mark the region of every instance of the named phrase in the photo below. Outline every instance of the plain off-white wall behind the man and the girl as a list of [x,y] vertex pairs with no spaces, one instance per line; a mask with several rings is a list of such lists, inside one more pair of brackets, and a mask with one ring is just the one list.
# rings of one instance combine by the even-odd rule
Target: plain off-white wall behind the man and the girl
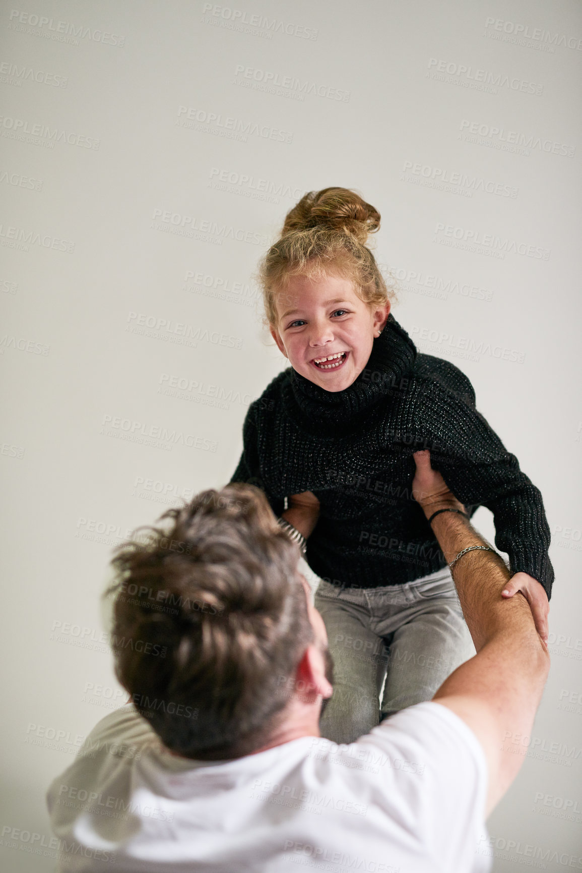
[[252,274],[328,185],[380,210],[394,316],[469,375],[544,495],[551,676],[483,851],[582,869],[581,24],[572,0],[4,5],[6,869],[52,869],[26,836],[50,839],[45,789],[124,699],[111,549],[228,481],[286,364]]

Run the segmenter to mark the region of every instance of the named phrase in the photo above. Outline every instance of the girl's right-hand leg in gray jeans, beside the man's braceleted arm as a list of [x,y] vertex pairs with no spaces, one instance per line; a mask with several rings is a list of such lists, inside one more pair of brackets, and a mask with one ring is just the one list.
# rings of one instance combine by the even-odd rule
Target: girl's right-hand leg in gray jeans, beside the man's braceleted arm
[[476,653],[448,570],[440,579],[408,582],[405,588],[411,599],[390,641],[381,718],[430,700]]

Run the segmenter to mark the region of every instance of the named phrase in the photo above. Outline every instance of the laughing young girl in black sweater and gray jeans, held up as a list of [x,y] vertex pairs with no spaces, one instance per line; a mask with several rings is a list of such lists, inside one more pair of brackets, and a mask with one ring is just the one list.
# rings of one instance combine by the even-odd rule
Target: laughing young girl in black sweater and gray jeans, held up
[[321,732],[336,742],[432,698],[475,654],[447,562],[412,497],[414,451],[430,450],[468,514],[478,505],[493,512],[511,572],[529,574],[520,590],[538,629],[542,586],[549,597],[553,581],[540,492],[476,411],[467,376],[419,354],[390,313],[366,247],[379,227],[379,212],[344,188],[311,191],[285,217],[260,278],[270,333],[291,367],[250,405],[231,479],[263,489],[322,580],[315,604],[334,692]]

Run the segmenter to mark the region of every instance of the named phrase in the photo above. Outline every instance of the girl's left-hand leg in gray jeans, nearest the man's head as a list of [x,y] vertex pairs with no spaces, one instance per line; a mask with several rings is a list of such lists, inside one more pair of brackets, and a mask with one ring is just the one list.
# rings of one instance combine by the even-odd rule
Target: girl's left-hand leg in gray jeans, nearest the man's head
[[315,606],[323,616],[333,658],[333,695],[319,723],[321,736],[353,743],[380,721],[387,650],[368,626],[369,609],[361,589],[341,591],[322,581]]

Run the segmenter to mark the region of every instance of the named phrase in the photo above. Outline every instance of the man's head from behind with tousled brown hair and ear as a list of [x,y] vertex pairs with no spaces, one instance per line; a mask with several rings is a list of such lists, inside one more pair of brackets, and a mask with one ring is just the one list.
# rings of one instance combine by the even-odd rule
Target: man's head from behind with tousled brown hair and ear
[[117,677],[173,752],[249,754],[290,706],[331,695],[298,546],[253,485],[202,491],[162,519],[113,559]]

